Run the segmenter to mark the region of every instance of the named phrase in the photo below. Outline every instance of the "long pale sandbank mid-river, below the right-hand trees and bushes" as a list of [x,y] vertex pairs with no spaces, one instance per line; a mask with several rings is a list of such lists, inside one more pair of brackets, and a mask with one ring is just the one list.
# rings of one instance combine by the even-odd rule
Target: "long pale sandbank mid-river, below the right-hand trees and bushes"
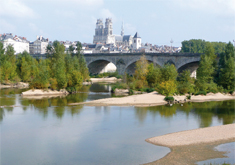
[[[157,105],[165,105],[167,102],[164,100],[165,96],[159,94],[158,92],[151,92],[139,95],[131,95],[121,98],[107,98],[107,99],[99,99],[88,102],[81,103],[71,103],[69,105],[79,105],[85,104],[90,106],[157,106]],[[174,96],[176,100],[184,101],[186,96]],[[230,94],[221,94],[221,93],[209,93],[206,96],[198,95],[191,96],[191,102],[205,102],[205,101],[222,101],[222,100],[235,100],[235,96]]]

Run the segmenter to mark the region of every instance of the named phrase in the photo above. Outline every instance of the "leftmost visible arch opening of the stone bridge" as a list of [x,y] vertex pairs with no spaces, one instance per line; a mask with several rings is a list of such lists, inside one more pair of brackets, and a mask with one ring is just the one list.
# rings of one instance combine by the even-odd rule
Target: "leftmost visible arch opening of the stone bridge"
[[[87,64],[87,67],[89,69],[89,72],[91,74],[99,74],[99,73],[104,73],[107,72],[107,69],[110,68],[111,64],[111,71],[116,71],[117,67],[115,63],[112,60],[109,59],[104,59],[104,58],[98,58],[93,61],[90,61]],[[109,66],[109,68],[107,68]]]

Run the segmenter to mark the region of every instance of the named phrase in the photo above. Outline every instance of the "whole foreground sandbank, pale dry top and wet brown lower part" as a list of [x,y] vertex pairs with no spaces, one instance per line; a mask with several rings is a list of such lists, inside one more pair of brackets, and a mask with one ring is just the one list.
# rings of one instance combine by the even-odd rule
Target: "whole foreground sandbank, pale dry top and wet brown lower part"
[[176,132],[146,139],[147,142],[169,147],[165,157],[147,163],[148,165],[188,165],[198,161],[225,157],[225,152],[214,148],[223,143],[235,141],[235,124]]

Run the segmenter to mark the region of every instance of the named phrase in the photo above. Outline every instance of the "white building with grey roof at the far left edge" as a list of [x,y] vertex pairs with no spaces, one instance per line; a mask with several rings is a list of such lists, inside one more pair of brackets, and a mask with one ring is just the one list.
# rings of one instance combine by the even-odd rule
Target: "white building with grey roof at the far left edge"
[[3,48],[6,50],[8,45],[12,45],[15,54],[23,53],[24,51],[29,53],[29,41],[25,37],[13,36],[12,33],[0,34],[0,41],[3,43]]

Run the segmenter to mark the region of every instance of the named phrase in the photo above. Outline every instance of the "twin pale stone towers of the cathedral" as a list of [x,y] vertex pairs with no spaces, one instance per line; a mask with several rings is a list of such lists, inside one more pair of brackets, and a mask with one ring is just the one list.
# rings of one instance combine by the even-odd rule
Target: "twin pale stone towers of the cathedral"
[[101,19],[97,20],[95,35],[93,43],[110,44],[115,43],[115,36],[113,35],[113,23],[111,18],[107,18],[105,21],[105,28]]

